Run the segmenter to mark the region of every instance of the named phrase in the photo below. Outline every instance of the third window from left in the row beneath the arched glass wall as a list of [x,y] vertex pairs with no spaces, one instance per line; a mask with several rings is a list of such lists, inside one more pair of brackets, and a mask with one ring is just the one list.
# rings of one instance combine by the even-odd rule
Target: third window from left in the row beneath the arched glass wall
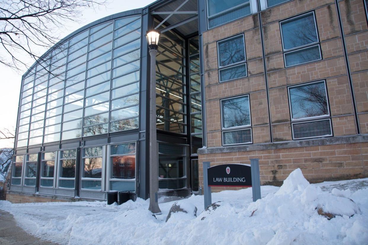
[[42,153],[40,186],[54,187],[55,152]]

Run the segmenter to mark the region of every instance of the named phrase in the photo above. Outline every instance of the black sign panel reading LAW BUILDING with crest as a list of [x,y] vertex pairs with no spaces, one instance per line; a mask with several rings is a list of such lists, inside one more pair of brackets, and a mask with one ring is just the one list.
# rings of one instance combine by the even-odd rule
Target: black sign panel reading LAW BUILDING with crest
[[223,164],[208,168],[209,186],[251,187],[251,166]]

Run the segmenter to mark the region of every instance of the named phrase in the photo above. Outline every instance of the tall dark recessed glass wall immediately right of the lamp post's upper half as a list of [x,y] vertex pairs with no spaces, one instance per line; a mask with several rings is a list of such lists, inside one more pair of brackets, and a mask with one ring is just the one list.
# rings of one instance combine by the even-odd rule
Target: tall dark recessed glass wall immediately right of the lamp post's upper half
[[184,47],[185,40],[169,30],[160,35],[156,57],[157,129],[182,134],[187,125]]

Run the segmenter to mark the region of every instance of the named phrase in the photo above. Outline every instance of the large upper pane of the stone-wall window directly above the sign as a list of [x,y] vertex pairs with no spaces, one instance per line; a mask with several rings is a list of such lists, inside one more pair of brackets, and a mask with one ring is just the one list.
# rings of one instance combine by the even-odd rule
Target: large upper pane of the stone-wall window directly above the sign
[[238,127],[250,125],[249,96],[221,101],[222,127]]

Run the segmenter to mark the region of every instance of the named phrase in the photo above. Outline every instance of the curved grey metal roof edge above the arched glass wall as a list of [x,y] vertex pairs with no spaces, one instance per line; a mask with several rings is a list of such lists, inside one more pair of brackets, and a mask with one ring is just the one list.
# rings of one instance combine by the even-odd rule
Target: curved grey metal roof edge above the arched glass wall
[[[125,17],[125,16],[129,16],[129,15],[137,15],[137,14],[140,14],[142,15],[142,10],[146,8],[146,7],[143,7],[143,8],[136,8],[136,9],[133,9],[133,10],[127,10],[127,11],[123,11],[123,12],[119,12],[119,13],[116,13],[116,14],[112,14],[112,15],[109,15],[109,16],[106,16],[106,17],[103,17],[101,19],[98,19],[96,21],[93,21],[85,26],[82,26],[81,28],[75,30],[74,32],[70,33],[69,35],[67,35],[66,37],[64,37],[63,39],[60,39],[59,42],[55,43],[52,47],[50,47],[45,53],[43,53],[41,55],[41,58],[42,57],[45,57],[47,54],[49,54],[55,47],[57,47],[59,44],[63,43],[64,41],[66,41],[67,39],[69,39],[70,37],[78,34],[79,32],[85,30],[85,29],[88,29],[92,26],[95,26],[97,24],[100,24],[100,23],[103,23],[103,22],[106,22],[106,21],[109,21],[111,19],[116,19],[116,18],[119,18],[119,17]],[[22,80],[24,78],[24,76],[38,63],[38,60],[35,61],[29,68],[26,72],[24,72],[24,74],[22,75]],[[22,84],[21,84],[22,85]]]

